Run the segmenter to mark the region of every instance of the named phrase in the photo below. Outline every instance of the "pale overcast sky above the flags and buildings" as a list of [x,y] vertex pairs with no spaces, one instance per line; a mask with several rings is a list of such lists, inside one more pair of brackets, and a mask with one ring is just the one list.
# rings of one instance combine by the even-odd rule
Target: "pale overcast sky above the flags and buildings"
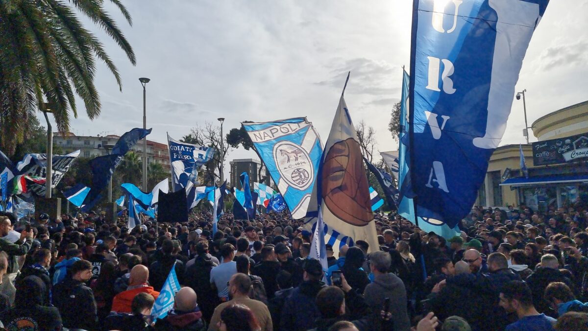
[[[105,4],[108,4],[105,1]],[[133,26],[107,6],[131,43],[137,65],[99,28],[119,68],[123,90],[106,66],[96,86],[102,115],[90,121],[79,103],[76,135],[117,134],[142,126],[147,85],[149,139],[180,139],[195,125],[307,116],[323,141],[329,134],[346,72],[353,122],[377,134],[377,149],[397,149],[387,124],[400,99],[402,66],[410,64],[410,0],[147,1],[128,0]],[[547,113],[588,100],[588,0],[551,1],[533,35],[517,91],[527,89],[529,125]],[[39,118],[41,119],[41,118]],[[41,119],[44,123],[44,119]],[[513,103],[502,145],[524,143],[523,103]],[[532,136],[532,141],[536,139]],[[232,149],[228,161],[255,153]]]

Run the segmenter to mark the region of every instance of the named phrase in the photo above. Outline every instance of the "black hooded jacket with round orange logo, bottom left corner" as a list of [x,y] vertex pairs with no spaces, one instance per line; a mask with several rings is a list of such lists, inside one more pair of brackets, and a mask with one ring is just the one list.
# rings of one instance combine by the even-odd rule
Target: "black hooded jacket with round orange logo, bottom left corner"
[[28,276],[20,283],[15,307],[0,313],[6,330],[29,327],[32,330],[61,329],[61,316],[56,307],[46,307],[45,283],[36,276]]

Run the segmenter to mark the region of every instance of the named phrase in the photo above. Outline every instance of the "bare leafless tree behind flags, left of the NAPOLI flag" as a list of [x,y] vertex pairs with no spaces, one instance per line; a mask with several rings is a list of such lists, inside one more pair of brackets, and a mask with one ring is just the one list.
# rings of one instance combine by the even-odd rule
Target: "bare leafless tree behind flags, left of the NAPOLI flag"
[[190,134],[182,139],[182,141],[187,143],[194,143],[216,149],[216,153],[213,155],[211,161],[204,165],[204,173],[199,175],[202,179],[202,183],[205,183],[206,185],[214,185],[216,179],[220,179],[220,172],[222,171],[220,156],[225,155],[226,158],[226,153],[229,151],[230,147],[229,144],[225,142],[225,145],[223,146],[224,149],[221,152],[221,139],[220,126],[213,125],[210,122],[205,122],[204,126],[196,125],[190,130]]

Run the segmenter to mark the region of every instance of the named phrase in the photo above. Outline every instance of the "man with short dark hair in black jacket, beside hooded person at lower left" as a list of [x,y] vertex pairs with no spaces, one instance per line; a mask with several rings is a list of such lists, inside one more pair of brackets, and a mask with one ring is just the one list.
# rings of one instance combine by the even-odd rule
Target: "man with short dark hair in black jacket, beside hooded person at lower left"
[[92,264],[86,260],[74,262],[71,276],[55,285],[53,303],[59,309],[64,327],[69,329],[95,330],[98,312],[92,289],[86,285],[92,278]]

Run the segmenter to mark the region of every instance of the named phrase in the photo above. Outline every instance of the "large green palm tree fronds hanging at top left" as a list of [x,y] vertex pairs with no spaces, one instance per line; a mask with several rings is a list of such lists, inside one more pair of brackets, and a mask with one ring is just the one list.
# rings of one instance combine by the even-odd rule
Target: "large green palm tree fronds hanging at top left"
[[[120,0],[115,4],[132,24]],[[69,117],[78,111],[75,94],[90,119],[100,114],[101,103],[93,83],[96,58],[115,76],[121,76],[102,42],[77,16],[88,16],[123,49],[135,65],[135,54],[103,0],[0,1],[0,147],[12,153],[26,135],[26,123],[36,109],[51,105],[57,128],[69,131]]]

